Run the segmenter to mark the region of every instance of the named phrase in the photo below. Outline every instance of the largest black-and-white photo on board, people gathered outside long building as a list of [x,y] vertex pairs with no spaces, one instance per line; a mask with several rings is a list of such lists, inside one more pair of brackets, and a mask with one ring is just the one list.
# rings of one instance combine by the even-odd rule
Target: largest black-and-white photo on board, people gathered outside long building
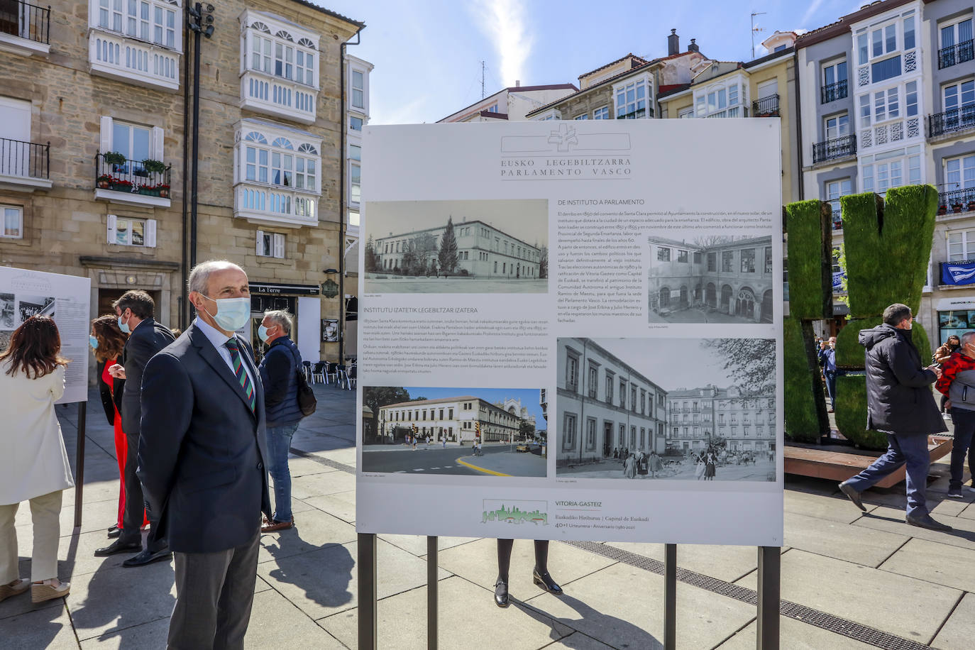
[[775,340],[560,338],[556,475],[775,480]]

